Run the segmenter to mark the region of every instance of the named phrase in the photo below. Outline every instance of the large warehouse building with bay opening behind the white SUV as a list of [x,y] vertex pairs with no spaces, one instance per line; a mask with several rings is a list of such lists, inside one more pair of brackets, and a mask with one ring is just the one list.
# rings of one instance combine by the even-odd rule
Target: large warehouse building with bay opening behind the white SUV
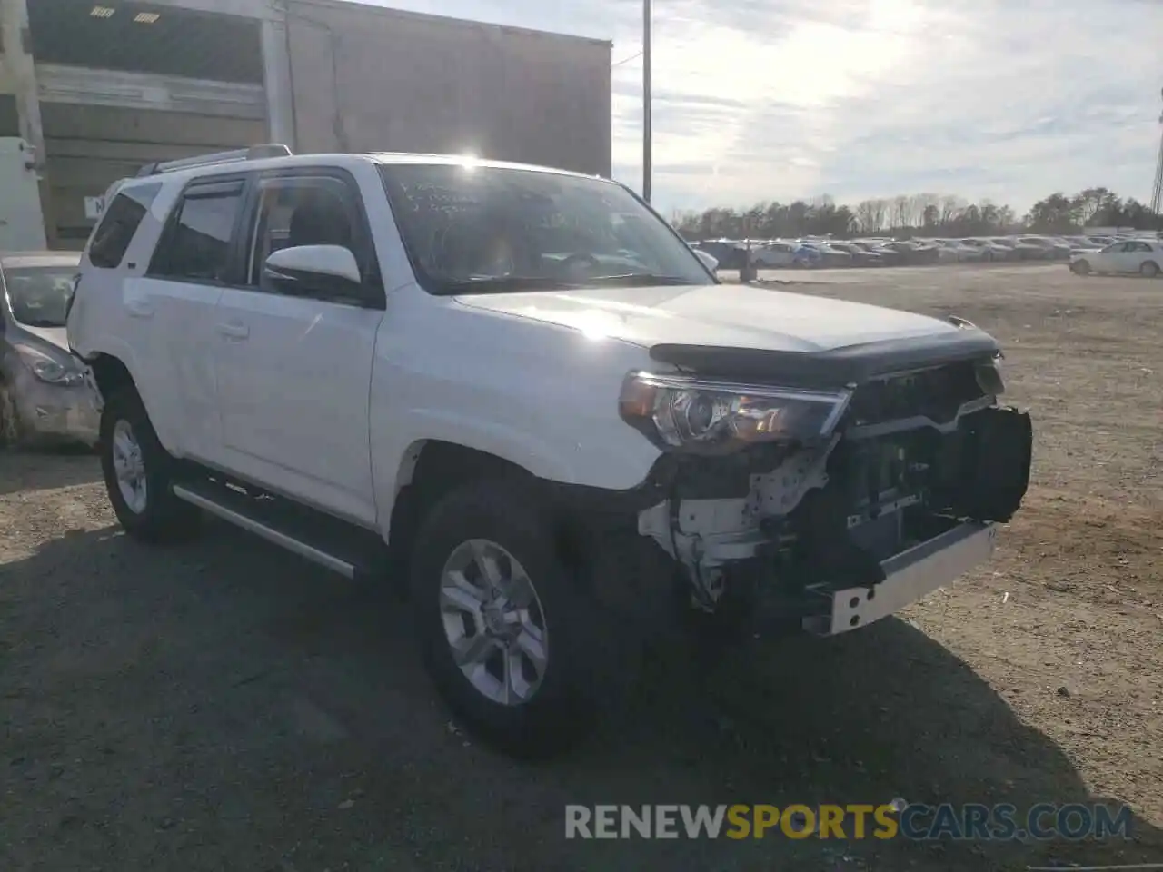
[[609,56],[356,0],[0,0],[0,231],[79,248],[114,180],[261,142],[608,176]]

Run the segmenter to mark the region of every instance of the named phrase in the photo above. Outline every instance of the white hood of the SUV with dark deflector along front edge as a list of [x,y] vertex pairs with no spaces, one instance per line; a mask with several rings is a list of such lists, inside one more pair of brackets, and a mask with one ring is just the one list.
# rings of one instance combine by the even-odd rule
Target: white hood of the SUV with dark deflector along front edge
[[[694,369],[799,365],[821,377],[864,377],[992,352],[992,337],[909,312],[747,285],[473,294],[461,305],[533,319],[651,350]],[[842,364],[842,365],[841,365]],[[807,374],[807,371],[805,371]]]

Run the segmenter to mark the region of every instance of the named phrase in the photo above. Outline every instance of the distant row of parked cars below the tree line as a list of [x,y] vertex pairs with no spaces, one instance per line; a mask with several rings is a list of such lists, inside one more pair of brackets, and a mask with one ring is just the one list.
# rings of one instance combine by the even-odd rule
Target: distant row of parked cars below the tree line
[[1068,262],[1072,255],[1105,248],[1116,241],[1114,236],[969,236],[956,240],[804,236],[797,240],[705,240],[693,244],[714,257],[722,270],[743,269],[749,258],[756,269],[772,270],[973,260]]

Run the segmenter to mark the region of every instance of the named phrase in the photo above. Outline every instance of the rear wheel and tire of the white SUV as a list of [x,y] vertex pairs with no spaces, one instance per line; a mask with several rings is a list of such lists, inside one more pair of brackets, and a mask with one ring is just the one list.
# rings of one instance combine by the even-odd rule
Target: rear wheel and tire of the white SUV
[[133,387],[116,391],[106,401],[98,451],[109,502],[129,536],[162,543],[195,533],[201,515],[170,489],[174,460],[158,442]]

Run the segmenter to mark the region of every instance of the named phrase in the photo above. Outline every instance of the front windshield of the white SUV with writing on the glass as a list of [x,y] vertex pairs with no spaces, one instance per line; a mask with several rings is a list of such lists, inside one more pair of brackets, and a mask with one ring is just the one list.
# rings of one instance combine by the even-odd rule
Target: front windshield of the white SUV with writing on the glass
[[715,284],[686,243],[614,183],[475,165],[380,172],[429,293]]

